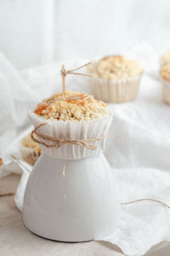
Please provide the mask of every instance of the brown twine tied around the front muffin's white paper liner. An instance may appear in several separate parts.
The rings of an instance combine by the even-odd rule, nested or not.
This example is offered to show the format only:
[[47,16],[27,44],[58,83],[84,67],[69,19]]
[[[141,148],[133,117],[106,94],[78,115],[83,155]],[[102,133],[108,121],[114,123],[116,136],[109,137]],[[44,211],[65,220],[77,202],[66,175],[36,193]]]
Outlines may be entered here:
[[[82,147],[85,147],[85,148],[88,148],[88,149],[96,149],[97,146],[95,145],[91,145],[91,144],[88,144],[88,143],[92,143],[92,142],[95,142],[95,141],[101,141],[103,140],[105,137],[108,136],[108,132],[105,133],[104,136],[102,137],[93,137],[93,138],[89,138],[89,139],[86,139],[86,140],[71,140],[71,139],[66,139],[66,138],[54,138],[54,137],[50,137],[48,135],[45,135],[45,134],[42,134],[42,133],[39,133],[37,132],[37,130],[42,127],[43,125],[47,125],[46,123],[43,123],[41,125],[38,125],[33,131],[31,131],[31,138],[32,140],[35,142],[35,143],[39,143],[39,144],[42,144],[43,146],[47,147],[47,148],[59,148],[62,144],[66,144],[66,143],[69,143],[71,145],[78,145],[78,146],[82,146]],[[45,143],[45,142],[42,142],[42,141],[39,141],[35,135],[37,135],[37,137],[41,137],[43,140],[45,141],[48,141],[48,142],[52,142],[53,144],[48,144],[48,143]]]

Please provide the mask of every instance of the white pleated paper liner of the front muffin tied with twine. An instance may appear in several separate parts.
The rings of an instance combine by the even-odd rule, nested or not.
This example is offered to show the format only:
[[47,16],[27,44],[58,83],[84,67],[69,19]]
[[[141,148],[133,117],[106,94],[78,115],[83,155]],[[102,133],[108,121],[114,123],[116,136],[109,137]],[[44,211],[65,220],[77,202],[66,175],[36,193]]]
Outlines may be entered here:
[[[102,137],[107,131],[109,131],[112,116],[111,113],[106,114],[104,117],[99,119],[85,121],[74,121],[70,120],[54,120],[54,119],[43,119],[32,111],[29,112],[31,121],[35,127],[46,123],[38,129],[39,133],[54,137],[56,139],[66,138],[71,140],[86,140],[94,137]],[[38,140],[50,144],[50,142],[44,141],[42,138],[38,137]],[[42,144],[39,144],[42,151],[52,157],[58,159],[76,160],[82,159],[89,156],[94,156],[99,154],[101,150],[105,148],[106,137],[101,141],[95,141],[89,143],[90,145],[97,146],[96,149],[88,149],[79,145],[71,145],[69,143],[62,144],[60,148],[47,148]],[[53,143],[52,143],[53,144]]]

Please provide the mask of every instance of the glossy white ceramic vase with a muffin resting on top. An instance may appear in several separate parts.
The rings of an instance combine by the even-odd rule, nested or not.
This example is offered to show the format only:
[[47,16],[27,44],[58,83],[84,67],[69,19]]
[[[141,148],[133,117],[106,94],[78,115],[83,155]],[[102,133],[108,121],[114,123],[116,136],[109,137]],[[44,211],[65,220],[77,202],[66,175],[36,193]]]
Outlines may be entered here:
[[31,232],[56,241],[100,239],[116,229],[121,204],[103,153],[81,160],[42,154],[33,167],[23,207]]

